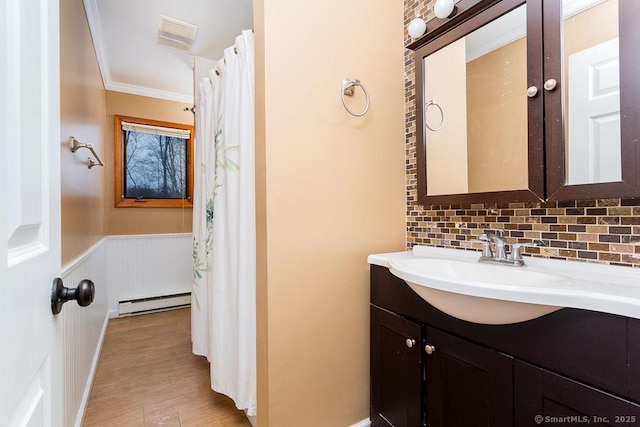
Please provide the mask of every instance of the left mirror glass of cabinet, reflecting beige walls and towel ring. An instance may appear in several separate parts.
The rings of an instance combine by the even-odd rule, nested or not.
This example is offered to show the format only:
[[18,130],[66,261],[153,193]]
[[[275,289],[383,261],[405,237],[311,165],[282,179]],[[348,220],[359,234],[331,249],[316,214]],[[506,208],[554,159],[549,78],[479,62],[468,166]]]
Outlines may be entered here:
[[428,196],[529,187],[526,28],[522,5],[423,58]]

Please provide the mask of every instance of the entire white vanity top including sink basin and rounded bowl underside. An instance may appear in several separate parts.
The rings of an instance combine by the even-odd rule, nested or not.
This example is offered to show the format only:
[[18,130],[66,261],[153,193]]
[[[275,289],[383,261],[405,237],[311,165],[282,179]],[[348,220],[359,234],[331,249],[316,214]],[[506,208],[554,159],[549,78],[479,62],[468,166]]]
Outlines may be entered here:
[[475,323],[508,324],[564,307],[640,319],[640,268],[526,258],[524,267],[479,263],[480,253],[415,246],[369,255],[441,311]]

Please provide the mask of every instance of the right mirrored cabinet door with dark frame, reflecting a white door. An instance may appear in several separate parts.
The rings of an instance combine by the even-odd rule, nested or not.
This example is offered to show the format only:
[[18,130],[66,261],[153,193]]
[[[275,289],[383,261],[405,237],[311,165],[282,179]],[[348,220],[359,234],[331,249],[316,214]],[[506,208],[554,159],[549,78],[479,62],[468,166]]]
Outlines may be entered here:
[[544,5],[545,78],[560,82],[545,115],[562,118],[545,122],[546,197],[639,197],[640,2]]

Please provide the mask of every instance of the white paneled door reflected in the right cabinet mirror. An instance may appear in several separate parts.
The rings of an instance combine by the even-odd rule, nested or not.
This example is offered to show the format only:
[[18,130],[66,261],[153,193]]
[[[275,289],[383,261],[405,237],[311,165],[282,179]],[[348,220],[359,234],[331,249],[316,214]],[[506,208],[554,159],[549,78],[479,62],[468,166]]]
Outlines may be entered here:
[[622,179],[618,39],[569,56],[568,184]]

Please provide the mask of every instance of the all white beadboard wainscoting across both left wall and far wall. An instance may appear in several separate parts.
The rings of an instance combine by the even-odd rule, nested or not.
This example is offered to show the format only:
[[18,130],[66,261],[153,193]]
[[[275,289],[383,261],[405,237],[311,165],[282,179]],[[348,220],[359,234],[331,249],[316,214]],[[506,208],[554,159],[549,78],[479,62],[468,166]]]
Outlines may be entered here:
[[58,315],[62,340],[64,425],[81,426],[109,317],[119,301],[191,292],[191,234],[108,236],[65,265],[65,286],[93,280],[88,307],[71,301]]

